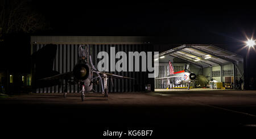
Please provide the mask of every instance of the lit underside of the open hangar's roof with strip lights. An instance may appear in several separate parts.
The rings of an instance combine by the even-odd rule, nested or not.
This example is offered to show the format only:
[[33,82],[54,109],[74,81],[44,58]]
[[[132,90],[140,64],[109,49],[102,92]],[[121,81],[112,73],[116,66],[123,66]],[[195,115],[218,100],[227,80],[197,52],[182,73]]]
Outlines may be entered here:
[[[201,67],[243,62],[243,57],[238,54],[213,45],[203,44],[184,44],[155,55],[155,59],[156,56],[159,57],[159,63],[168,62],[171,58],[177,58]],[[163,56],[164,58],[160,58]]]

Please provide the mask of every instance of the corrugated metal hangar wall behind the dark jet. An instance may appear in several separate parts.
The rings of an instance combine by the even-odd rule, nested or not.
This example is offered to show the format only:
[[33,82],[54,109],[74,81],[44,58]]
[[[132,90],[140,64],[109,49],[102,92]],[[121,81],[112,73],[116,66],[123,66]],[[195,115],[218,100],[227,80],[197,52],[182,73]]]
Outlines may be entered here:
[[[32,52],[36,52],[37,50],[44,47],[46,44],[36,44],[32,47]],[[73,67],[77,64],[79,59],[78,54],[78,47],[79,44],[57,44],[57,52],[56,58],[53,64],[53,70],[59,71],[60,73],[65,73],[73,70]],[[110,47],[115,47],[115,52],[123,51],[127,54],[128,60],[128,52],[148,52],[152,51],[152,45],[148,44],[90,44],[90,54],[92,55],[93,64],[97,68],[97,62],[101,59],[97,58],[97,54],[100,51],[106,51],[110,54]],[[118,61],[116,59],[115,61]],[[110,62],[110,56],[109,56]],[[141,65],[141,60],[140,60]],[[109,66],[110,68],[110,66]],[[129,68],[127,62],[127,69]],[[122,75],[126,77],[135,78],[135,80],[131,79],[113,79],[113,84],[110,84],[110,80],[108,82],[109,91],[110,92],[127,92],[127,91],[144,91],[146,84],[151,84],[151,90],[154,90],[154,78],[147,78],[148,72],[142,72],[141,68],[139,72],[109,72],[117,75]],[[68,92],[77,92],[77,85],[70,85],[68,86]],[[94,85],[93,89],[97,92],[101,91],[101,87]],[[53,87],[44,87],[41,89],[36,89],[36,92],[63,92],[64,85],[53,86]]]

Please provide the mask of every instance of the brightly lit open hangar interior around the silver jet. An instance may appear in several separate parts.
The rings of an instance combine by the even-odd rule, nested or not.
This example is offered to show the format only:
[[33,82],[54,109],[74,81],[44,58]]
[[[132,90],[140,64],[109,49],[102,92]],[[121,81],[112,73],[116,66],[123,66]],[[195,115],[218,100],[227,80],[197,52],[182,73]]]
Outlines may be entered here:
[[[174,72],[184,70],[185,65],[189,64],[189,70],[196,74],[195,81],[191,83],[195,88],[209,88],[211,79],[220,82],[219,85],[222,83],[221,87],[218,86],[219,89],[234,89],[240,78],[244,81],[243,57],[213,45],[185,44],[159,53],[158,58],[159,74],[156,78],[170,74],[168,61],[171,60]],[[183,87],[187,87],[187,83],[170,85],[171,89]],[[155,79],[155,90],[157,89],[167,89],[167,79]]]

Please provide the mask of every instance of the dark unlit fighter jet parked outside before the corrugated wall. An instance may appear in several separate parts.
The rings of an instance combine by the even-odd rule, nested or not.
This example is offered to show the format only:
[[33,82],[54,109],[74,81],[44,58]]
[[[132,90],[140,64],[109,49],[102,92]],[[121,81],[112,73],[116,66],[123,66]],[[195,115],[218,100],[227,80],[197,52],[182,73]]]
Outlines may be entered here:
[[[81,99],[84,101],[85,93],[92,91],[93,85],[101,84],[101,93],[108,97],[108,79],[111,79],[111,81],[113,78],[134,79],[98,71],[93,65],[91,56],[89,56],[89,45],[80,45],[78,49],[79,62],[75,65],[73,71],[42,78],[39,79],[39,81],[56,81],[60,79],[62,81],[65,80],[65,84],[77,83],[79,85],[79,91],[81,92]],[[66,98],[66,96],[67,85],[65,85],[64,98]]]

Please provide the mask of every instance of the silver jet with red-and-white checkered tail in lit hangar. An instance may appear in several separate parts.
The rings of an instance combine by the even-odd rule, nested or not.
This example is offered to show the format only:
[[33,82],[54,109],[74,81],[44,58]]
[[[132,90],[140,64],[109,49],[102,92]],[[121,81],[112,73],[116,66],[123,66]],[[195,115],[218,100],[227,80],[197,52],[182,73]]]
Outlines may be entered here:
[[196,79],[196,74],[192,73],[188,70],[189,65],[185,66],[184,70],[177,71],[174,73],[174,68],[172,66],[171,61],[169,61],[169,72],[170,75],[168,77],[161,77],[161,78],[155,78],[155,79],[168,79],[168,88],[170,89],[170,83],[174,83],[174,85],[178,86],[181,85],[181,83],[188,83],[188,90],[190,89],[190,83],[194,79]]

